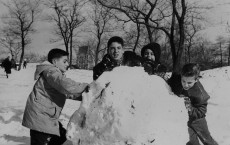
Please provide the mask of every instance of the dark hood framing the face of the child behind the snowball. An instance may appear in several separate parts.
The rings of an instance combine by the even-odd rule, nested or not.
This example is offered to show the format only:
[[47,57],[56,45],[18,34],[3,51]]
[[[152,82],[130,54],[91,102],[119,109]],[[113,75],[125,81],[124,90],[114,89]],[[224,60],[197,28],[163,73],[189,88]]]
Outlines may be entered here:
[[141,56],[144,57],[144,52],[146,49],[150,49],[153,51],[153,54],[155,56],[155,61],[156,62],[160,62],[160,57],[161,57],[161,46],[158,43],[152,42],[149,43],[147,45],[145,45],[142,49],[141,49]]

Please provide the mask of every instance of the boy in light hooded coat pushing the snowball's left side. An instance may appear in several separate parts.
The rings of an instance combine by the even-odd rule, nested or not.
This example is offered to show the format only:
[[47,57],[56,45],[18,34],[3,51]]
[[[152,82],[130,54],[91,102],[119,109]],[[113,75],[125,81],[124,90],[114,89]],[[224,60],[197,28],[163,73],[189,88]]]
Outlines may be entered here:
[[[66,130],[58,121],[66,99],[77,100],[87,83],[66,78],[68,53],[52,49],[48,62],[37,65],[37,80],[30,93],[22,125],[30,129],[31,145],[61,145],[66,141]],[[84,102],[84,97],[82,98]]]

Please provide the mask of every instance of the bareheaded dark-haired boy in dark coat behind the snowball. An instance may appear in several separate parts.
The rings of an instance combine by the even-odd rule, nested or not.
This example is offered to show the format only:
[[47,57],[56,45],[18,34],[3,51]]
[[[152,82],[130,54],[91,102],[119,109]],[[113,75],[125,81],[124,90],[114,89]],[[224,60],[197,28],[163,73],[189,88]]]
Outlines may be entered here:
[[93,68],[93,80],[96,80],[103,72],[111,71],[121,65],[140,66],[141,59],[132,51],[123,50],[124,41],[121,37],[111,37],[107,43],[107,54],[102,61]]

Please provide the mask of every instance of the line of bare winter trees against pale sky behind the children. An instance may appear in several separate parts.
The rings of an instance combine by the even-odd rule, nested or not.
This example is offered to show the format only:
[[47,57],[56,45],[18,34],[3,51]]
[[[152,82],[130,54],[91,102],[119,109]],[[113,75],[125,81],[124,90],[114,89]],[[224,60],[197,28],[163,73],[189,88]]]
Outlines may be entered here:
[[24,58],[46,60],[29,49],[42,21],[52,26],[50,43],[64,46],[76,68],[97,64],[114,35],[124,38],[125,49],[138,54],[147,43],[159,43],[161,62],[168,71],[179,72],[188,62],[198,62],[203,69],[229,65],[229,38],[218,36],[210,42],[202,35],[209,8],[196,0],[8,0],[2,4],[7,11],[1,16],[0,51],[20,64]]

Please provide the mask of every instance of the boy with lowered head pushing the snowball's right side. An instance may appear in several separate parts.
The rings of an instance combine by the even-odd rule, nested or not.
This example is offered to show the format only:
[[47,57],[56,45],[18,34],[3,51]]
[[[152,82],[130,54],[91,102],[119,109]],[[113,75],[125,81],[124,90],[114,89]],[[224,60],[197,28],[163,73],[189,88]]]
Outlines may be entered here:
[[[173,78],[169,79],[169,85],[175,94],[184,98],[185,107],[188,110],[189,142],[186,145],[200,145],[199,140],[204,145],[217,145],[210,135],[205,119],[210,96],[200,83],[199,74],[200,67],[198,64],[186,64],[182,68],[180,77],[174,75]],[[172,82],[172,80],[176,82]]]

